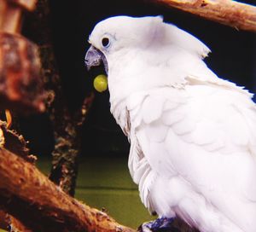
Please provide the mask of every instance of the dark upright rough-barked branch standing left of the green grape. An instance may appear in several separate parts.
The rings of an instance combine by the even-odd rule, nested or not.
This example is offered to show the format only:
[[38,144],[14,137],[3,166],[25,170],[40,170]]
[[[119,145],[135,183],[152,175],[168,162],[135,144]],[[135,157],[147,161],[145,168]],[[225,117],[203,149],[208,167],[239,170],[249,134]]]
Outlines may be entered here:
[[79,165],[78,123],[79,120],[84,119],[83,112],[80,113],[82,117],[75,119],[67,108],[51,44],[41,47],[40,55],[43,61],[44,86],[48,93],[47,112],[55,136],[55,149],[52,153],[52,169],[49,178],[67,194],[74,195]]

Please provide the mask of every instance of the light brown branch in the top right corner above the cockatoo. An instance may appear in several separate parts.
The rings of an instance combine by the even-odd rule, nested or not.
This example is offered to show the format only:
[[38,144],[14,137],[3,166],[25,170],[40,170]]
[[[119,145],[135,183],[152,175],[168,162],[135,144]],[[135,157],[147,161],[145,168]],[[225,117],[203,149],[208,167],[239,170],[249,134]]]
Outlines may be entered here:
[[231,0],[150,0],[197,14],[237,30],[256,32],[256,7]]

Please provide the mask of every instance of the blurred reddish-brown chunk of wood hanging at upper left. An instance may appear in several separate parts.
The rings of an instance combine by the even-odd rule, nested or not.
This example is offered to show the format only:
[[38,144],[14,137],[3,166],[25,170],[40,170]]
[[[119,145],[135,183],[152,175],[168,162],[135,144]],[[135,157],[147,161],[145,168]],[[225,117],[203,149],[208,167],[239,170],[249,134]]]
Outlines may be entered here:
[[19,5],[0,0],[0,107],[21,113],[43,111],[38,48],[18,34],[21,13]]

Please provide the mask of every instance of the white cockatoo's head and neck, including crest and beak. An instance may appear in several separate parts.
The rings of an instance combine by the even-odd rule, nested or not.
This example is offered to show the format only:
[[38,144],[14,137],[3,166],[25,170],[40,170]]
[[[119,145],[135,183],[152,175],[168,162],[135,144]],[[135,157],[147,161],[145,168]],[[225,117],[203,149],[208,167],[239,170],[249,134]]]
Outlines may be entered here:
[[103,63],[111,100],[156,86],[181,86],[188,73],[201,70],[198,64],[209,52],[200,40],[161,16],[102,20],[89,43],[85,65],[90,69]]

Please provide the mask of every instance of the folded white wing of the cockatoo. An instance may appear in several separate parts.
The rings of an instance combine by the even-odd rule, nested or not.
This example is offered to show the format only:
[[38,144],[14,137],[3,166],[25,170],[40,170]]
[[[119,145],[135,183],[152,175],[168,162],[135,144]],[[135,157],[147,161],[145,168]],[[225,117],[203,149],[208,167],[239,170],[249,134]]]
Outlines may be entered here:
[[[232,220],[256,215],[256,107],[246,91],[233,87],[191,81],[183,90],[131,96],[129,166],[135,182],[149,170],[154,174],[147,182],[180,176]],[[146,205],[148,191],[141,190]]]

